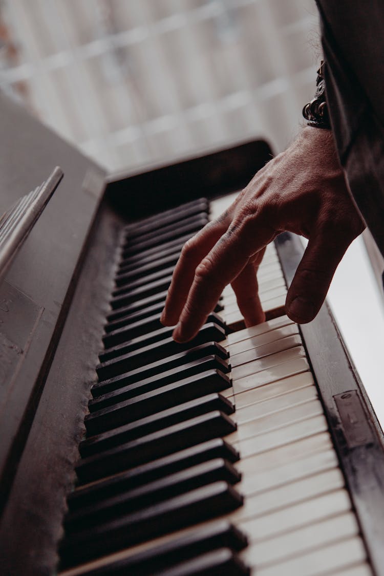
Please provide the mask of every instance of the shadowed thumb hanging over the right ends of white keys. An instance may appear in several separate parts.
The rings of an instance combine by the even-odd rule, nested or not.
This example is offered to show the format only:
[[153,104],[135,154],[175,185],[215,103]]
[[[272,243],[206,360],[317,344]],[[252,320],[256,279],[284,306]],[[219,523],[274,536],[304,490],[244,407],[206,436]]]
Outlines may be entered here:
[[350,241],[324,236],[309,240],[287,294],[286,313],[291,320],[305,324],[314,319]]

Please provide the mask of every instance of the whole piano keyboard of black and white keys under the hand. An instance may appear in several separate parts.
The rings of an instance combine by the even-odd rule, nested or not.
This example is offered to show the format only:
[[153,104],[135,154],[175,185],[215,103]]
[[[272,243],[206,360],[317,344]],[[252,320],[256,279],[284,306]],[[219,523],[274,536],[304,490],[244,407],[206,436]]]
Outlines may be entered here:
[[231,289],[188,344],[159,323],[207,220],[197,200],[125,232],[60,574],[368,576],[274,245],[258,271],[264,324],[239,329]]

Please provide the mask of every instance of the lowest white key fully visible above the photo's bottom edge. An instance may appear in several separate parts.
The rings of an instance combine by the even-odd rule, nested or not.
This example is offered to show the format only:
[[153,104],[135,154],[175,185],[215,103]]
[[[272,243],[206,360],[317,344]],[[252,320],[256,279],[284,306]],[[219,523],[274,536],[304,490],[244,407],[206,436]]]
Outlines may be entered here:
[[241,558],[248,566],[260,570],[265,565],[322,548],[340,539],[357,536],[358,533],[359,526],[355,515],[345,512],[336,518],[326,518],[267,541],[250,543],[241,553]]

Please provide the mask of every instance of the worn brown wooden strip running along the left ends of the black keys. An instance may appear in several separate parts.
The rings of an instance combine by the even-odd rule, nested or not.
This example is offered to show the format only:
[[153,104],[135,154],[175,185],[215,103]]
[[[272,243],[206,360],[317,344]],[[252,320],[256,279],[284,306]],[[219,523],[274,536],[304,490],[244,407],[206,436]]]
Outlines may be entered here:
[[102,203],[2,516],[0,565],[5,574],[55,573],[122,226]]

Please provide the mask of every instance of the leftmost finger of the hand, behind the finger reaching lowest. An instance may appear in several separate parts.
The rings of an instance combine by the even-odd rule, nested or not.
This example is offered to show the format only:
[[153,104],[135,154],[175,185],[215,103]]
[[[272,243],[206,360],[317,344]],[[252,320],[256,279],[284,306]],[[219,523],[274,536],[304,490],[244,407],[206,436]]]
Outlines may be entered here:
[[165,307],[160,317],[161,323],[165,326],[177,324],[181,310],[187,301],[197,265],[219,240],[227,227],[228,223],[225,218],[210,222],[184,245],[173,271]]

